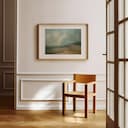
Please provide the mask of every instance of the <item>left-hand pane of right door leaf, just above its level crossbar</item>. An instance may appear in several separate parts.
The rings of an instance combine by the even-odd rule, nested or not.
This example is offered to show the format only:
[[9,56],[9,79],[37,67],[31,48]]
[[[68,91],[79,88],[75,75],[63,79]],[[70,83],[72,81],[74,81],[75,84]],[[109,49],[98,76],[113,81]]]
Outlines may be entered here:
[[124,58],[124,24],[119,25],[119,58]]

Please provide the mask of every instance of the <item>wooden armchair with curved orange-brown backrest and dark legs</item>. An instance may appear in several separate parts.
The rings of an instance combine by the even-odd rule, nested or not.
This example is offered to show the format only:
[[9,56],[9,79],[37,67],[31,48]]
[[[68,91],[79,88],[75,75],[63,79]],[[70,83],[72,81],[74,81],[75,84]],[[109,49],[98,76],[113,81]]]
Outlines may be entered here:
[[[63,99],[62,99],[62,114],[65,114],[66,109],[66,97],[73,98],[73,111],[76,110],[76,98],[84,98],[84,111],[85,118],[87,118],[88,113],[88,97],[93,97],[93,113],[96,111],[96,75],[86,75],[86,74],[74,74],[74,79],[72,81],[63,82]],[[84,85],[84,91],[77,91],[78,83]],[[72,91],[69,91],[69,86],[73,86]],[[93,91],[88,91],[88,86],[93,85]]]

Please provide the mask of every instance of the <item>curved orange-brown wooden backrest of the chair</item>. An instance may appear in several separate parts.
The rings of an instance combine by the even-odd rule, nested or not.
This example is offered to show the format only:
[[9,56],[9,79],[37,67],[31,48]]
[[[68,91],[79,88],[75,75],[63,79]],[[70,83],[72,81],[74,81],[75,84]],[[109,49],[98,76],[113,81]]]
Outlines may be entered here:
[[74,80],[78,83],[89,83],[96,81],[94,74],[74,74]]

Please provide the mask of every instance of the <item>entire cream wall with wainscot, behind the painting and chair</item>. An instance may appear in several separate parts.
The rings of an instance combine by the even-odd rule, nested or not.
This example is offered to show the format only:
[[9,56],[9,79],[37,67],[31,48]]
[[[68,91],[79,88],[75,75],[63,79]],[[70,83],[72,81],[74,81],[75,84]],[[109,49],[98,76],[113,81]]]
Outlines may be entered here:
[[[40,23],[88,24],[88,60],[38,60],[37,24]],[[105,109],[103,53],[105,53],[104,0],[18,0],[16,108],[61,109],[62,81],[72,79],[73,73],[95,73],[97,108]],[[52,97],[48,97],[48,94],[52,94]],[[69,100],[68,108],[70,105]]]

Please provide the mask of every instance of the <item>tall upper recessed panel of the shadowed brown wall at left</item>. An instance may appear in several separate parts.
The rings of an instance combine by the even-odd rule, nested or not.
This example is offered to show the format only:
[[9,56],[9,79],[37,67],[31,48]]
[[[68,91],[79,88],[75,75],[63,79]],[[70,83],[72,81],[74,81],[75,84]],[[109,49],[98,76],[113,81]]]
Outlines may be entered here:
[[15,4],[3,0],[3,61],[14,62],[15,45]]

